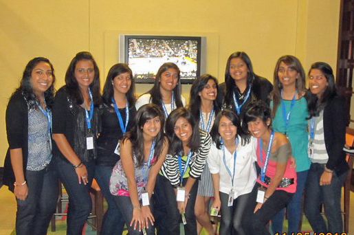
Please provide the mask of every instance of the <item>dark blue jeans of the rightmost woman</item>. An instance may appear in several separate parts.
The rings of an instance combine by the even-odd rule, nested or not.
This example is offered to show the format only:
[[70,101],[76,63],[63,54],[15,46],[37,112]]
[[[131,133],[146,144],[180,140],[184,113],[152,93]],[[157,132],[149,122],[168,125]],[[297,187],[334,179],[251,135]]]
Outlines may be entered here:
[[[348,172],[339,176],[333,172],[331,184],[320,186],[320,177],[323,172],[324,164],[311,164],[305,188],[304,212],[313,232],[340,233],[343,232],[340,194]],[[328,229],[320,214],[320,205],[322,203],[324,204],[324,214],[327,217]]]

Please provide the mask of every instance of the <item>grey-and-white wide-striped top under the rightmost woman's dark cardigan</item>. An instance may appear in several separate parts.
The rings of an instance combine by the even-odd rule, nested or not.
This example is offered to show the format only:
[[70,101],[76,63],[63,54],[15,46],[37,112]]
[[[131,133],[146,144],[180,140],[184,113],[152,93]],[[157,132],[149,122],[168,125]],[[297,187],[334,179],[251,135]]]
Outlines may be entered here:
[[[323,110],[320,111],[320,115],[315,118],[315,138],[313,140],[313,156],[309,156],[311,162],[326,164],[329,157],[326,149],[326,144],[324,143],[324,128],[323,128]],[[309,126],[311,120],[309,120]]]

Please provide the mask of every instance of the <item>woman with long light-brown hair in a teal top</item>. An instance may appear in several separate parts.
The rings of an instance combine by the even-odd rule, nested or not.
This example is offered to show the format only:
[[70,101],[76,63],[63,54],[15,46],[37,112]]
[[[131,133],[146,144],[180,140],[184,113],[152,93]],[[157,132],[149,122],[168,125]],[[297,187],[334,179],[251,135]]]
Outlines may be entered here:
[[[287,136],[296,159],[298,184],[296,193],[287,205],[288,232],[298,232],[302,192],[310,167],[307,156],[307,101],[305,99],[305,71],[295,56],[282,56],[274,69],[274,87],[271,93],[272,124],[274,131]],[[273,232],[282,232],[285,209],[272,219]]]

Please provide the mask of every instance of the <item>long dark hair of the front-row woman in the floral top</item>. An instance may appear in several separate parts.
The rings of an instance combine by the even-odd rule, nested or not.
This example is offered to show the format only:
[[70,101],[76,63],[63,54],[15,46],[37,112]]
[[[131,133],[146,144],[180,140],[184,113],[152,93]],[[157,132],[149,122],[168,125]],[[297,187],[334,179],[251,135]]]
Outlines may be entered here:
[[[159,155],[162,151],[162,146],[164,146],[165,138],[164,138],[164,123],[165,123],[165,115],[156,104],[144,104],[137,111],[135,115],[135,125],[131,128],[131,131],[127,132],[126,135],[122,138],[122,143],[129,139],[131,141],[131,146],[133,148],[133,153],[135,153],[135,157],[137,159],[136,167],[142,166],[144,164],[144,136],[142,128],[147,120],[159,117],[161,128],[159,133],[155,137],[155,157],[159,158]],[[155,161],[156,162],[156,161]]]

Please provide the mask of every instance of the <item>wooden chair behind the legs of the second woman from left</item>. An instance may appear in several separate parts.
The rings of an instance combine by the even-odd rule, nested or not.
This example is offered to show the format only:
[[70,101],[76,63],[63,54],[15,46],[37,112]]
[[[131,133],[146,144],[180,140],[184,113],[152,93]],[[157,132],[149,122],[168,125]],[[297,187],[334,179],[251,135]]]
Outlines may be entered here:
[[[63,185],[61,181],[59,180],[58,183],[58,202],[56,206],[56,213],[53,214],[52,219],[51,219],[51,230],[52,232],[56,231],[56,221],[55,218],[56,216],[66,216],[67,213],[64,213],[62,208],[63,208],[63,202],[67,202],[68,197],[66,195],[63,196]],[[103,219],[103,194],[100,190],[100,187],[98,186],[98,183],[96,179],[93,179],[91,188],[89,190],[90,195],[91,195],[91,200],[92,200],[92,211],[91,214],[89,214],[89,217],[87,218],[87,224],[89,224],[94,231],[97,231],[97,234],[100,234],[101,231],[101,226],[102,226],[102,219]]]

